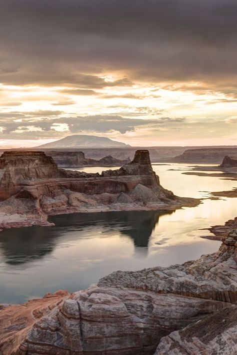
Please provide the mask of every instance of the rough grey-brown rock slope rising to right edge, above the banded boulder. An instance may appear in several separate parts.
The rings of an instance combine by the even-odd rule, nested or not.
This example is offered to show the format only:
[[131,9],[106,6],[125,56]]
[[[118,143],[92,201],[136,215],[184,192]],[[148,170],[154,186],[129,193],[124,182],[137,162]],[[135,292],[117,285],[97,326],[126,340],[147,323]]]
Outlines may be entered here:
[[[159,294],[176,294],[237,304],[237,231],[223,238],[218,252],[168,268],[117,271],[98,282],[100,287],[125,287]],[[224,282],[223,282],[224,281]]]

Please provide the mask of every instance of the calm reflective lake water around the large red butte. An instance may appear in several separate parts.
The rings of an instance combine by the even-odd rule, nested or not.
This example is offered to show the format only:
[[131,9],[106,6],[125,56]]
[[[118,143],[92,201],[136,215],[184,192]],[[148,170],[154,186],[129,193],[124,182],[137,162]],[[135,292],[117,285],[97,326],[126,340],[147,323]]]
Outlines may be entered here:
[[[237,182],[218,177],[183,175],[190,170],[187,164],[153,165],[153,169],[161,185],[179,196],[207,197],[210,191],[237,187]],[[223,224],[236,215],[235,198],[207,199],[172,213],[77,213],[51,217],[55,227],[4,230],[0,233],[0,303],[21,303],[58,289],[85,289],[115,270],[196,259],[220,245],[200,238],[209,232],[199,228]]]

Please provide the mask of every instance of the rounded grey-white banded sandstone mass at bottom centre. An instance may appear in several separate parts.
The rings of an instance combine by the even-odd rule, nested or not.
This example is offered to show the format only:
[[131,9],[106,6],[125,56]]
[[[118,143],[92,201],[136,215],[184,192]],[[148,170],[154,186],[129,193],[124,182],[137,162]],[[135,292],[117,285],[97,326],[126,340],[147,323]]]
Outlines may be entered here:
[[[21,342],[16,325],[11,327],[12,335],[7,341],[14,342],[14,348],[6,344],[4,333],[0,336],[3,355],[153,354],[163,336],[226,307],[211,300],[188,297],[177,300],[173,295],[96,286],[62,297],[58,306],[53,298],[52,303],[53,310],[39,319],[41,311],[34,309],[31,302],[14,310],[16,322],[19,322],[17,312],[22,317],[24,307],[28,316],[28,309],[31,310],[34,319],[25,322],[31,324],[30,330],[27,327],[28,334],[21,323],[21,335],[24,333]],[[14,306],[8,308],[8,314],[11,307]],[[0,317],[4,319],[5,314],[7,309],[1,311]]]

